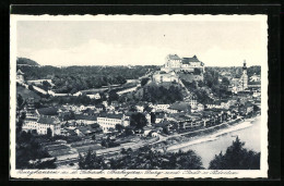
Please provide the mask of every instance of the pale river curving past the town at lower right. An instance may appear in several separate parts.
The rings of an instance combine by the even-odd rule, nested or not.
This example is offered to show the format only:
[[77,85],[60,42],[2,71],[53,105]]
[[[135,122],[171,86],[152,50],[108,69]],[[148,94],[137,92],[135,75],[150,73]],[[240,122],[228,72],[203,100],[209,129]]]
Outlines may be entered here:
[[223,129],[223,132],[221,131],[217,132],[217,134],[211,135],[209,137],[209,140],[204,142],[187,146],[181,150],[194,150],[197,154],[199,154],[202,158],[203,166],[206,169],[209,166],[210,161],[214,159],[215,154],[218,154],[221,151],[225,153],[227,147],[229,147],[233,140],[236,139],[236,136],[238,136],[241,141],[246,142],[245,148],[252,149],[259,152],[261,133],[260,117],[261,116],[257,116],[255,121],[246,121],[235,126],[230,126],[229,128]]

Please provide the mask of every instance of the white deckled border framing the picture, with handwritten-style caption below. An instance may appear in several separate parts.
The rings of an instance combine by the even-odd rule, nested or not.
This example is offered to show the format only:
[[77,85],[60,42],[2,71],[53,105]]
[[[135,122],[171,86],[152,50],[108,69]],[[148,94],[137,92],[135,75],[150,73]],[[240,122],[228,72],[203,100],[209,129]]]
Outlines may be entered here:
[[[262,41],[268,45],[267,15],[11,15],[10,16],[10,176],[12,178],[258,178],[268,177],[268,63],[261,64],[261,170],[15,170],[16,23],[17,21],[228,21],[261,23]],[[268,51],[267,51],[268,54]],[[267,58],[268,61],[268,58]],[[115,171],[115,172],[114,172]],[[137,173],[134,173],[137,172]],[[139,174],[138,174],[139,173]]]

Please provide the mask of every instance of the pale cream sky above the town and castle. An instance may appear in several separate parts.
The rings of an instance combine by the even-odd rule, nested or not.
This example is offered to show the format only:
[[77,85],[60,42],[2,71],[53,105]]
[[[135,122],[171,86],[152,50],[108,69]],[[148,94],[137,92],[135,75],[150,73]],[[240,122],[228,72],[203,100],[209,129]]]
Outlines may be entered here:
[[258,21],[17,21],[16,55],[42,65],[163,65],[167,54],[206,66],[267,63]]

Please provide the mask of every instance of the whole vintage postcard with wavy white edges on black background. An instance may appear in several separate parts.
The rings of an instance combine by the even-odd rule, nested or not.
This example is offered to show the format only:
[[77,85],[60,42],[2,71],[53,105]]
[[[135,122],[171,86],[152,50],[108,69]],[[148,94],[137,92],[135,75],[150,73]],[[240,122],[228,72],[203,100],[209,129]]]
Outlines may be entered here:
[[268,177],[267,15],[10,17],[11,177]]

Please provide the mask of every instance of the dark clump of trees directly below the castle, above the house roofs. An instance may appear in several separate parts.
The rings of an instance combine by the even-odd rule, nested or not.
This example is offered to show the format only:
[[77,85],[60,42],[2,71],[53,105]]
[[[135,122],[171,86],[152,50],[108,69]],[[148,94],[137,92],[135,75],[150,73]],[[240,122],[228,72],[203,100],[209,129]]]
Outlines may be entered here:
[[143,87],[142,101],[153,103],[174,103],[184,99],[182,88],[178,86],[146,86]]

